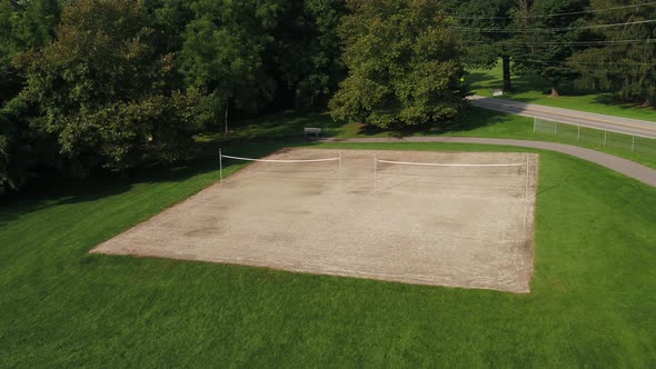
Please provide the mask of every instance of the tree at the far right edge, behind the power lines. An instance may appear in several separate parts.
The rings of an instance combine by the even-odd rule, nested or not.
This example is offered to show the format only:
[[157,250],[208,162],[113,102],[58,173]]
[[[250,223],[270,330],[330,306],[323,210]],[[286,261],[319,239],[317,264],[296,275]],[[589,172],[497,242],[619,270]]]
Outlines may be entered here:
[[[624,6],[627,1],[590,2],[592,10]],[[649,6],[596,12],[589,20],[593,27],[637,23],[593,30],[593,36],[605,43],[569,58],[569,66],[580,73],[579,84],[594,89],[617,89],[624,100],[642,98],[643,107],[656,107],[656,24],[643,22],[653,19],[656,19],[656,7]]]

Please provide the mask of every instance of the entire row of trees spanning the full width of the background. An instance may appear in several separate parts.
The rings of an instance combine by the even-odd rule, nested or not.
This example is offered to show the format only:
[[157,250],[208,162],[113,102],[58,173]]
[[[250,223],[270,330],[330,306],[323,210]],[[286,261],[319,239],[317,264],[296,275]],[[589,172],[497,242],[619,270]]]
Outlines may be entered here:
[[236,114],[441,122],[465,67],[499,58],[507,90],[531,72],[654,106],[654,19],[628,0],[0,0],[0,192],[176,162]]

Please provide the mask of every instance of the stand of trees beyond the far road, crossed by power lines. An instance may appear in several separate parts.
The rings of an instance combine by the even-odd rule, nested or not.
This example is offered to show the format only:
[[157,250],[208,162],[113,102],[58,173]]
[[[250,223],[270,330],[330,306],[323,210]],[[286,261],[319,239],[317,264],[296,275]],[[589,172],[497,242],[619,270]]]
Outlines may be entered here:
[[[635,0],[447,0],[468,63],[500,58],[504,89],[510,73],[536,73],[551,83],[622,91],[626,101],[656,106],[656,6]],[[510,63],[511,61],[511,63]],[[513,68],[511,68],[513,66]]]

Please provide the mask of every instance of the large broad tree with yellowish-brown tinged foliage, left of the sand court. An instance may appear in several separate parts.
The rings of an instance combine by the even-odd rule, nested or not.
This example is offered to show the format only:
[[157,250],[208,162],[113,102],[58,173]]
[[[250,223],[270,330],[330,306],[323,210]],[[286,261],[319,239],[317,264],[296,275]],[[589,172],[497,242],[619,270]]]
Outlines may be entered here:
[[34,122],[74,172],[188,152],[195,97],[170,89],[172,57],[153,43],[142,2],[79,0],[63,8],[56,41],[23,57],[23,96],[40,109]]

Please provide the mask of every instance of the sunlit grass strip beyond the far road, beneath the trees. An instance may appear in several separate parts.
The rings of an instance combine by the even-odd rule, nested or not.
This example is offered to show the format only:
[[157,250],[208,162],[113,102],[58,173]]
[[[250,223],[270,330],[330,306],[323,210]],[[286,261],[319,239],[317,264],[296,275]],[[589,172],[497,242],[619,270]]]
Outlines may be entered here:
[[[503,71],[500,63],[491,70],[471,70],[467,77],[471,89],[480,96],[491,97],[493,89],[501,88]],[[513,76],[513,93],[505,93],[504,99],[543,106],[583,110],[600,114],[634,118],[656,122],[656,109],[639,108],[639,103],[626,103],[610,92],[598,93],[577,91],[571,82],[563,83],[563,96],[551,98],[550,86],[538,76]]]

